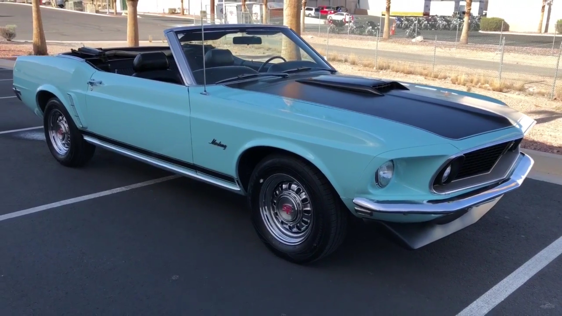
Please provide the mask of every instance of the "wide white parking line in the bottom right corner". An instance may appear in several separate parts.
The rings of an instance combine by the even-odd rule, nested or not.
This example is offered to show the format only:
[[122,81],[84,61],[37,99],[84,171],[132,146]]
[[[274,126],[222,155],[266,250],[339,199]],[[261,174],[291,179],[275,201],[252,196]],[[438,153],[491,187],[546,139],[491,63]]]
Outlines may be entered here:
[[497,304],[505,300],[507,296],[517,290],[531,277],[533,277],[552,260],[562,254],[562,237],[552,242],[549,246],[525,262],[519,269],[515,270],[490,291],[478,297],[472,304],[468,305],[457,316],[483,316],[492,310]]

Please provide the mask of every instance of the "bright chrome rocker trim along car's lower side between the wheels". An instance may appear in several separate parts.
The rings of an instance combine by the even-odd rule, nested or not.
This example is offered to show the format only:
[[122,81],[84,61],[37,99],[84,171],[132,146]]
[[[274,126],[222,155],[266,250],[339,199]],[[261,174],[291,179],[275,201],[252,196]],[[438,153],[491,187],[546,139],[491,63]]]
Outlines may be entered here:
[[184,175],[185,177],[188,177],[188,178],[192,178],[192,179],[195,179],[195,180],[200,180],[202,182],[212,184],[216,187],[228,189],[229,191],[239,193],[239,194],[243,194],[240,187],[238,187],[236,184],[222,182],[221,180],[214,179],[214,178],[211,178],[211,177],[207,177],[206,175],[197,174],[195,171],[185,169],[185,168],[182,168],[180,166],[168,164],[164,161],[156,160],[156,159],[144,156],[144,155],[140,155],[140,154],[137,154],[136,152],[132,152],[132,151],[126,150],[124,148],[120,148],[120,147],[110,145],[110,144],[102,142],[102,141],[98,141],[98,139],[96,139],[96,138],[92,138],[92,137],[89,137],[89,136],[83,136],[83,137],[84,137],[84,140],[87,141],[90,144],[105,148],[107,150],[116,152],[117,154],[127,156],[127,157],[133,158],[133,159],[138,160],[138,161],[146,162],[147,164],[155,166],[156,168],[171,171],[171,172],[176,173],[176,174]]

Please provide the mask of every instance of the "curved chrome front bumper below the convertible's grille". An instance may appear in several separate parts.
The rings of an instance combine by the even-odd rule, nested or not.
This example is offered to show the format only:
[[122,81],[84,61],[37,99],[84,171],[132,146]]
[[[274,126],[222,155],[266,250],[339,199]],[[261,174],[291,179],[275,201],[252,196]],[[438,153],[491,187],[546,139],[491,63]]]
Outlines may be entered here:
[[373,216],[373,213],[445,215],[493,202],[497,197],[519,188],[523,180],[527,178],[534,161],[523,153],[518,160],[509,178],[495,187],[486,188],[485,191],[476,190],[475,193],[470,192],[453,198],[427,201],[373,201],[356,197],[353,199],[355,211],[358,215],[363,216]]

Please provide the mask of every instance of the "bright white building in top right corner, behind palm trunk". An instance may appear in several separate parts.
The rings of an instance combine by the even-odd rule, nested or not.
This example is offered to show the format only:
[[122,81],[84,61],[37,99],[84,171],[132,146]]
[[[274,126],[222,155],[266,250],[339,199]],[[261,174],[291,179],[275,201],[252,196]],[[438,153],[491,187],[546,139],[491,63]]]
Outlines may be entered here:
[[[536,32],[541,19],[542,0],[491,0],[487,17],[501,17],[509,24],[510,31]],[[562,19],[562,2],[547,5],[542,20],[542,31],[554,33],[556,21]]]

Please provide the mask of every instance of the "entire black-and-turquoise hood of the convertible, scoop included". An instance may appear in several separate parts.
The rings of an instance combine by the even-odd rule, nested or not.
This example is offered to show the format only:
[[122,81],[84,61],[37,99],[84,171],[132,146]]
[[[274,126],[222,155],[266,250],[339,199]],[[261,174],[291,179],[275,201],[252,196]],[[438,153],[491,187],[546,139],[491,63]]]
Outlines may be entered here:
[[[463,139],[500,130],[506,130],[509,136],[514,132],[523,136],[535,123],[500,101],[479,94],[362,76],[303,74],[226,86],[370,117],[373,119],[370,126],[362,128],[370,129],[366,132],[379,133],[375,121],[382,119],[394,123],[395,127],[398,123],[410,128],[400,129],[402,132],[414,128],[419,133],[436,136],[428,135],[432,142],[441,139],[454,145]],[[352,121],[348,124],[358,127]],[[392,136],[392,132],[384,133]]]

